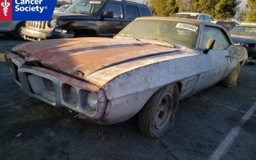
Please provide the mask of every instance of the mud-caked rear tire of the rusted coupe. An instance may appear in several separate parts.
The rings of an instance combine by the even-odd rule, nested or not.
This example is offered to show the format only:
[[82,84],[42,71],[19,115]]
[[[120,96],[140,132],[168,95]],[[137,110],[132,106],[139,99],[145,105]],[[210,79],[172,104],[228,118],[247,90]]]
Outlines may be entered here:
[[230,74],[228,74],[227,77],[225,77],[222,81],[221,81],[221,85],[222,86],[226,86],[226,87],[235,87],[237,78],[240,74],[240,70],[241,70],[241,65],[240,63],[236,66],[236,68],[234,68],[232,70],[232,72],[230,72]]

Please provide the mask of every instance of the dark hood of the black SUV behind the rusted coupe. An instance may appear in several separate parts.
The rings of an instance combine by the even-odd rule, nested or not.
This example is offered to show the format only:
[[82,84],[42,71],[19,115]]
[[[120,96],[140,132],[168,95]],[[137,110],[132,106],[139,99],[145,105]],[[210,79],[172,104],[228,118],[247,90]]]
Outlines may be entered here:
[[67,19],[96,19],[93,15],[84,15],[78,13],[67,13],[67,12],[55,12],[52,17],[55,17],[58,20],[67,20]]

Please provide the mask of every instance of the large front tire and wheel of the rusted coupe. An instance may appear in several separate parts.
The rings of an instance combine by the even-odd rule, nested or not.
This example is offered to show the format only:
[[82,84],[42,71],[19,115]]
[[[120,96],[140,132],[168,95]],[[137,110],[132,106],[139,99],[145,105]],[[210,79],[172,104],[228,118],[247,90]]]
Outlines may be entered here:
[[174,125],[178,106],[177,84],[171,84],[154,93],[138,114],[141,133],[148,138],[164,136]]

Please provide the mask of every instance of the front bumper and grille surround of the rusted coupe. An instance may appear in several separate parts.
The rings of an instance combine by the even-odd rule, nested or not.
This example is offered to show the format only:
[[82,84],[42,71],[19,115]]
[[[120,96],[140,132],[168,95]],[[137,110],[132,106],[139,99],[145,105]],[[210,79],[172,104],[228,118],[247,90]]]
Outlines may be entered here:
[[[86,83],[46,68],[24,65],[25,61],[13,53],[7,54],[6,60],[10,64],[15,82],[22,87],[24,93],[29,97],[40,99],[51,106],[71,109],[79,113],[79,116],[84,116],[95,123],[104,115],[106,95],[103,90],[94,84]],[[74,88],[75,92],[73,93],[77,95],[76,104],[69,99],[67,100],[65,86]],[[86,93],[88,92],[93,92],[98,97],[97,109],[95,110],[90,109],[85,102]]]

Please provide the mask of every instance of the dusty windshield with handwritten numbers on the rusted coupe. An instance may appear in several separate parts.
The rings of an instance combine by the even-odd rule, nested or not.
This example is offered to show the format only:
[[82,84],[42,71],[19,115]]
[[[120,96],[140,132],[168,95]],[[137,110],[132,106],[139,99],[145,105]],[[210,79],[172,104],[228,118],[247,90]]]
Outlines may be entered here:
[[199,25],[173,20],[137,19],[123,29],[116,38],[150,40],[163,45],[180,45],[195,48]]

